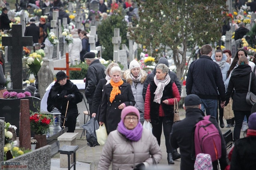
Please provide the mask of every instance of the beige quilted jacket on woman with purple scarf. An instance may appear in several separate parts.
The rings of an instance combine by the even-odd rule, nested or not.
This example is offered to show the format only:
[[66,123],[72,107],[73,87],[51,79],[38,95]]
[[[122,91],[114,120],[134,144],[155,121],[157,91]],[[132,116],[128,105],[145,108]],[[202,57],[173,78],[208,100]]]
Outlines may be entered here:
[[117,130],[108,135],[99,160],[98,169],[108,169],[112,161],[112,170],[133,170],[139,163],[147,167],[158,163],[162,158],[160,147],[155,136],[146,129],[143,129],[142,137],[138,142],[127,140]]

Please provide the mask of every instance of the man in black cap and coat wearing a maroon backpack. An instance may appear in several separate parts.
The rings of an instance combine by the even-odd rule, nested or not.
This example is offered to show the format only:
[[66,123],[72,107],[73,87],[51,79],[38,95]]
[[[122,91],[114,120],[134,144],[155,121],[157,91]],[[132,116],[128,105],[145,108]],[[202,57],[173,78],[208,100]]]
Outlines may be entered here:
[[[184,99],[184,110],[186,110],[186,118],[175,122],[172,125],[172,132],[170,134],[170,143],[174,148],[180,148],[181,153],[181,170],[194,170],[194,163],[196,155],[194,153],[194,146],[191,142],[194,139],[194,126],[197,122],[204,117],[204,113],[201,110],[201,100],[195,94],[187,95]],[[209,119],[215,127],[218,129],[219,134],[221,136],[221,158],[219,159],[219,163],[221,166],[221,170],[224,170],[227,166],[226,160],[226,144],[224,141],[224,137],[221,133],[221,130],[218,126],[216,118],[211,116]],[[217,170],[218,160],[212,162],[213,169]]]

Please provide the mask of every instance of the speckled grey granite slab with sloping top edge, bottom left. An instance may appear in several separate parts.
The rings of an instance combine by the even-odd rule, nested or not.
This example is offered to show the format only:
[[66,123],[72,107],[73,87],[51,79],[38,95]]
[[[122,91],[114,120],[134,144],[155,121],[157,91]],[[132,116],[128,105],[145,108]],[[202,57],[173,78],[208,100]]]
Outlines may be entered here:
[[50,170],[51,163],[51,147],[46,145],[42,148],[23,154],[19,157],[13,158],[11,161],[28,161],[29,170]]

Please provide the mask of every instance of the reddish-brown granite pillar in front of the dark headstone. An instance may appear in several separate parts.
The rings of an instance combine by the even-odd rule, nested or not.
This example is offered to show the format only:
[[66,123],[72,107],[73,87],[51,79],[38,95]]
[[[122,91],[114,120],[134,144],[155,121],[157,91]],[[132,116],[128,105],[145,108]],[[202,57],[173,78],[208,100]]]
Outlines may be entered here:
[[20,100],[20,133],[19,142],[21,148],[31,149],[29,120],[29,99]]

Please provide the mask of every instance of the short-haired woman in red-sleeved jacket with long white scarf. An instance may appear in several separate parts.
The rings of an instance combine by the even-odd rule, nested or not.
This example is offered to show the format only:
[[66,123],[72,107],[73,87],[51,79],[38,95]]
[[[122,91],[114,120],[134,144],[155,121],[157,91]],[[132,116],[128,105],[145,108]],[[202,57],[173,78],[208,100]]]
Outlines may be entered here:
[[160,145],[162,127],[165,136],[165,145],[168,164],[174,164],[181,155],[176,148],[172,148],[169,143],[170,133],[172,131],[174,117],[174,98],[180,101],[181,97],[178,88],[169,74],[169,68],[165,64],[156,66],[156,75],[149,81],[145,97],[145,115],[144,119],[150,121],[153,128],[153,134]]

